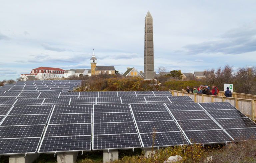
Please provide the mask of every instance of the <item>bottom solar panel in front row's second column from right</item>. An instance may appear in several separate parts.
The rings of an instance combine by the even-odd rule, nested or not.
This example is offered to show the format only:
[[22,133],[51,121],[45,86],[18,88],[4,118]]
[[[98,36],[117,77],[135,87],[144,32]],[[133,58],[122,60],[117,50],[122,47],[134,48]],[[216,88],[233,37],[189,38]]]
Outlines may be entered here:
[[191,143],[230,142],[230,137],[223,130],[184,131]]

